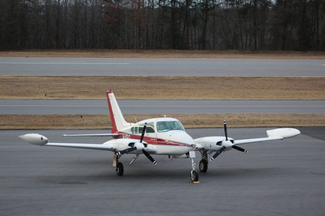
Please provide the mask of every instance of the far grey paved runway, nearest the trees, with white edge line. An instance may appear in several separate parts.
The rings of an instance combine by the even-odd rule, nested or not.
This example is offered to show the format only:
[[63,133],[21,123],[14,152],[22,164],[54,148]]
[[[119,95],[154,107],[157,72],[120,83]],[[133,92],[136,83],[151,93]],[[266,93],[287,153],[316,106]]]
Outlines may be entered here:
[[325,60],[0,57],[0,75],[324,77]]

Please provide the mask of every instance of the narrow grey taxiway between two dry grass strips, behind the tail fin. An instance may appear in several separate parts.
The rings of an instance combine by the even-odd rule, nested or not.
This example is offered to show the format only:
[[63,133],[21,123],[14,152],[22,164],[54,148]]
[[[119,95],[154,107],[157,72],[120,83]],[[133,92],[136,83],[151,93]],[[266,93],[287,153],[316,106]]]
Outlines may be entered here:
[[[124,114],[325,113],[325,100],[118,100]],[[107,100],[0,100],[0,114],[107,114]]]

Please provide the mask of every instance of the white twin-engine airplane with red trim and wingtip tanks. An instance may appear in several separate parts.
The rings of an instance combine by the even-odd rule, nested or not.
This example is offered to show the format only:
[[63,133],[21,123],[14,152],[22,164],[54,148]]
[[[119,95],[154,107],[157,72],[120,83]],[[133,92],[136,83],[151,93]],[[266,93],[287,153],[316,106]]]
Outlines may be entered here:
[[190,172],[190,181],[197,182],[199,174],[196,171],[196,163],[193,158],[196,157],[195,151],[200,151],[202,159],[199,164],[201,172],[208,169],[208,155],[211,155],[213,161],[221,152],[236,149],[241,152],[247,152],[239,147],[246,143],[269,141],[294,137],[300,134],[300,131],[294,128],[279,128],[267,130],[268,137],[234,140],[228,137],[225,121],[225,136],[210,136],[193,139],[189,136],[182,123],[173,118],[147,119],[138,123],[128,123],[124,120],[120,108],[117,104],[112,90],[106,92],[109,113],[111,116],[112,133],[110,134],[80,134],[63,136],[112,136],[115,139],[104,142],[103,144],[85,144],[85,143],[54,143],[40,134],[30,133],[19,136],[23,140],[39,146],[68,147],[92,150],[104,150],[114,152],[113,167],[116,168],[117,175],[123,175],[123,164],[118,162],[123,154],[135,154],[131,161],[132,164],[141,154],[144,154],[153,164],[156,161],[151,155],[168,155],[172,158],[189,158],[192,165]]

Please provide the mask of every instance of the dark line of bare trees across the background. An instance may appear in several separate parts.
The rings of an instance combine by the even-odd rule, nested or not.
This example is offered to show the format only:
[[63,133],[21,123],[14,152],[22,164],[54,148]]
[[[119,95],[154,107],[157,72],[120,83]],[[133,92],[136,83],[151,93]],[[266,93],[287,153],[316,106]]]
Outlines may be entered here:
[[1,0],[0,49],[325,50],[325,0]]

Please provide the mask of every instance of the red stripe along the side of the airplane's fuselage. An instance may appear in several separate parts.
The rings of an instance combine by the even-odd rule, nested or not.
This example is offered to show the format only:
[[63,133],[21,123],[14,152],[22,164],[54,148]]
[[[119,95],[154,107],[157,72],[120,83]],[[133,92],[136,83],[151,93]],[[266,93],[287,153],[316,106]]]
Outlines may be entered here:
[[[141,138],[141,135],[136,135],[136,134],[129,134],[129,133],[124,133],[118,131],[118,138],[131,138],[131,139],[139,139]],[[123,135],[124,134],[124,135]],[[155,140],[152,140],[155,139]],[[173,140],[165,140],[165,139],[160,139],[156,137],[150,137],[150,136],[144,136],[143,141],[147,142],[148,144],[152,145],[165,145],[165,146],[187,146],[190,147],[190,144],[183,143],[183,142],[178,142],[178,141],[173,141]]]

